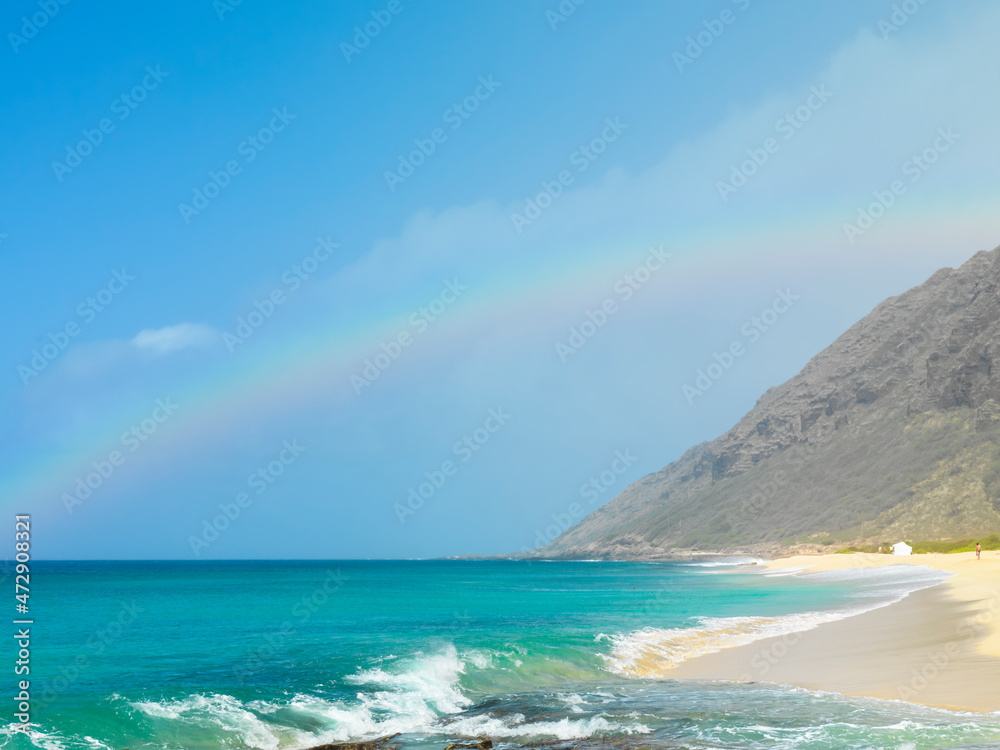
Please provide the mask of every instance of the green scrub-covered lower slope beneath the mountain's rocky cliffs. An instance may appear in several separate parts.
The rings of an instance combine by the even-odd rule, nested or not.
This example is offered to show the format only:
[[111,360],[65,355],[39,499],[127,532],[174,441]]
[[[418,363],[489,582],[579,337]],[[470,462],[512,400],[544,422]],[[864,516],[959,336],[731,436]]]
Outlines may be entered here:
[[690,549],[1000,528],[1000,446],[974,423],[975,413],[960,408],[880,421],[863,435],[845,431],[815,448],[792,447],[766,466],[716,482],[695,502],[668,513],[659,506],[655,516],[628,525]]

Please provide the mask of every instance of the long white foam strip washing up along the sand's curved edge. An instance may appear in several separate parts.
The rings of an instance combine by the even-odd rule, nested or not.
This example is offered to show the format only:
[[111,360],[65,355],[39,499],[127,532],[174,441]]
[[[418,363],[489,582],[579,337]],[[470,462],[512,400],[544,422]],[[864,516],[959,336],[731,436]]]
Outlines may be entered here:
[[607,669],[626,677],[666,677],[688,659],[853,617],[894,604],[914,591],[936,586],[951,577],[922,565],[850,568],[798,576],[816,583],[850,583],[857,589],[844,606],[827,611],[777,617],[704,617],[688,628],[650,627],[631,633],[602,633],[597,640],[611,641],[611,652],[602,655]]

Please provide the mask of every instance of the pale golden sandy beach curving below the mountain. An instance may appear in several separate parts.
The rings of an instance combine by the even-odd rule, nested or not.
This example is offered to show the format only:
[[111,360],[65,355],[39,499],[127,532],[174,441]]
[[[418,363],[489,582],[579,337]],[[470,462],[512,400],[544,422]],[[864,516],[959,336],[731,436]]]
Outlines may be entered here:
[[[812,630],[683,662],[675,679],[763,681],[951,710],[1000,711],[1000,552],[799,556],[765,571],[925,565],[953,577]],[[760,571],[761,568],[755,568]]]

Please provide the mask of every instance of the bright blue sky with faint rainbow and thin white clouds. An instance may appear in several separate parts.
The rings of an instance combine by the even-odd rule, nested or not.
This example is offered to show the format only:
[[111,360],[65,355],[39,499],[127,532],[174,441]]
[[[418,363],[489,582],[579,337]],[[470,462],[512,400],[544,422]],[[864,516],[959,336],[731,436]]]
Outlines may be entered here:
[[990,3],[680,5],[10,5],[36,554],[533,547],[1000,244]]

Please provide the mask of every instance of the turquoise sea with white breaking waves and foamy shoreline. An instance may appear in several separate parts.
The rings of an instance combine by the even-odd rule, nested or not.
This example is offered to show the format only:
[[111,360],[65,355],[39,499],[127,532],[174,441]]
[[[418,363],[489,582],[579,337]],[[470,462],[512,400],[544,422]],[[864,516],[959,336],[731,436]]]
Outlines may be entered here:
[[634,668],[642,654],[681,660],[940,580],[902,568],[35,563],[34,724],[30,739],[8,727],[2,740],[277,749],[400,732],[407,748],[441,750],[477,735],[509,747],[1000,747],[997,716]]

